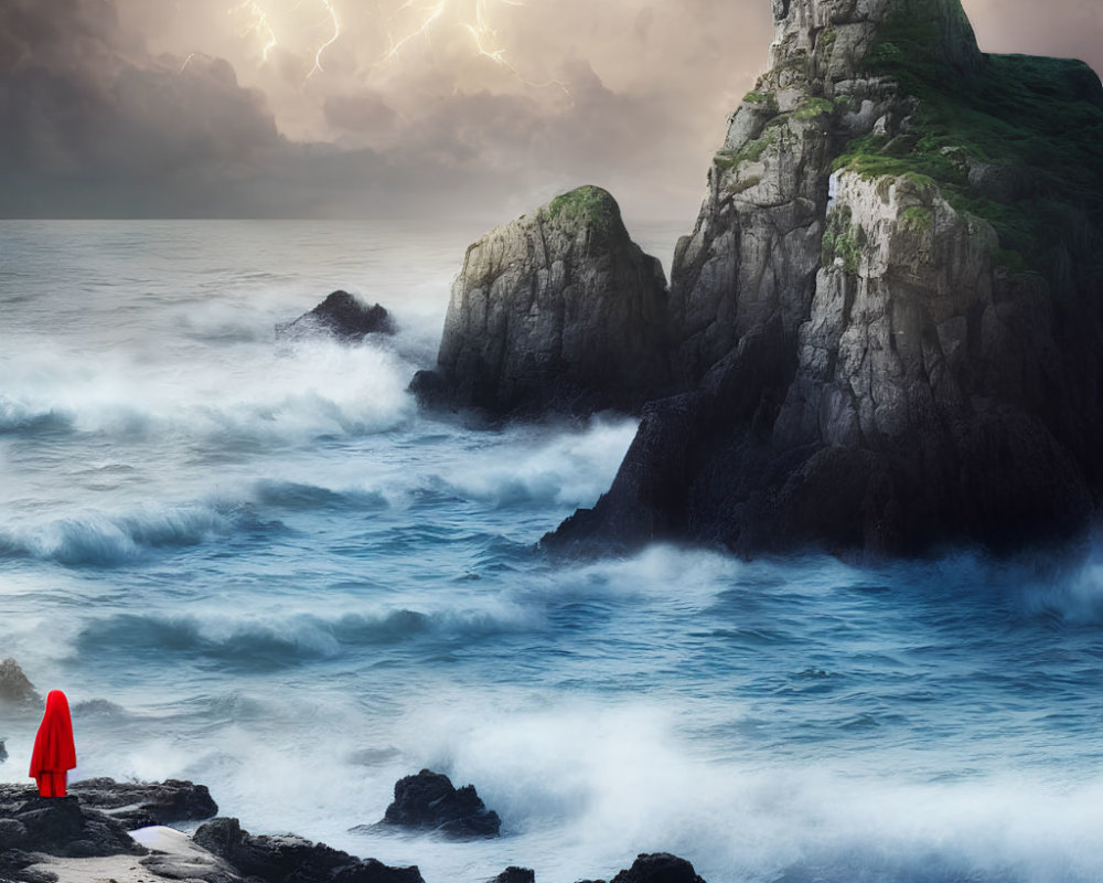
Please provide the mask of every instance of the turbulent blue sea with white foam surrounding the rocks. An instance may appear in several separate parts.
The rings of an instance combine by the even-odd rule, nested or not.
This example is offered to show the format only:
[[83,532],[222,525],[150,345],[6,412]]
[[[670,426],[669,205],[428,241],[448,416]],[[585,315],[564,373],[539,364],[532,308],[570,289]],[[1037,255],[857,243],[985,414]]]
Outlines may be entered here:
[[[634,425],[416,412],[479,232],[0,223],[0,658],[67,691],[75,776],[203,781],[428,883],[656,850],[709,883],[1103,880],[1095,551],[550,564]],[[276,345],[339,287],[401,333]],[[0,719],[0,778],[36,724]],[[349,832],[425,766],[504,836]]]

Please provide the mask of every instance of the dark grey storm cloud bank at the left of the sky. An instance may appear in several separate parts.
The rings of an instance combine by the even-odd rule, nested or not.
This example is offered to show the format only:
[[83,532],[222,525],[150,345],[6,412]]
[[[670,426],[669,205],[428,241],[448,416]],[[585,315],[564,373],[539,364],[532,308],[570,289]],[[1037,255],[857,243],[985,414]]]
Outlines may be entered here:
[[197,209],[285,147],[227,62],[150,58],[106,0],[3,0],[0,32],[4,214]]

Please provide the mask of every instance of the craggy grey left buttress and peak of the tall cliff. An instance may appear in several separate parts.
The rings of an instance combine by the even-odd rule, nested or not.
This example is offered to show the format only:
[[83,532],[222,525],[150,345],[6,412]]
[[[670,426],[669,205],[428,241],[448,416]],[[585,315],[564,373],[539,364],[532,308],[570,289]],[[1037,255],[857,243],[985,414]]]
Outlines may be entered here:
[[864,60],[891,13],[929,21],[949,70],[981,63],[957,0],[777,0],[770,71],[731,116],[697,225],[672,270],[681,363],[695,381],[751,328],[807,316],[832,163],[853,138],[907,116]]

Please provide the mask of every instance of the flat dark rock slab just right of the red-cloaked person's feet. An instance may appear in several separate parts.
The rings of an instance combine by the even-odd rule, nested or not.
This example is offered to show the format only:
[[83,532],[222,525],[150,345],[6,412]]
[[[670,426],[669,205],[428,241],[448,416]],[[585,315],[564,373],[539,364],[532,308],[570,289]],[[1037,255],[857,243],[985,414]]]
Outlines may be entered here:
[[127,828],[201,821],[218,815],[205,785],[180,779],[130,783],[110,778],[83,779],[68,792],[86,807],[101,810]]

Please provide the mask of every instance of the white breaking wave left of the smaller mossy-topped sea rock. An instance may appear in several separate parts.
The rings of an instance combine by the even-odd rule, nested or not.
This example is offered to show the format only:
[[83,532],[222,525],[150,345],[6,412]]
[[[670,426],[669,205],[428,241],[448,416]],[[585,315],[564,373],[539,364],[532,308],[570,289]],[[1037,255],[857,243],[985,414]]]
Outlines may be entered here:
[[141,363],[43,347],[4,366],[0,421],[9,429],[54,418],[121,439],[233,444],[381,432],[413,413],[409,366],[382,348],[318,341],[286,358],[268,343],[235,348],[233,360],[226,352]]

